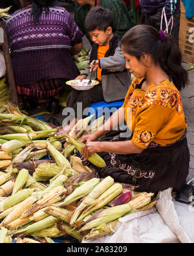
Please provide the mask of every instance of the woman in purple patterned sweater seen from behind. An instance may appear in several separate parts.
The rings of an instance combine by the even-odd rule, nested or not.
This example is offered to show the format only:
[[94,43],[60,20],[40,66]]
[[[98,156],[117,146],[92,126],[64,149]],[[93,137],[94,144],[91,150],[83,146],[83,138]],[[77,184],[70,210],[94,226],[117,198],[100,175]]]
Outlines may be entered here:
[[58,98],[65,80],[78,69],[72,55],[82,48],[82,32],[54,0],[20,0],[21,10],[7,19],[7,34],[17,93],[28,97],[25,107],[36,108],[34,99],[50,99],[48,111],[59,111]]

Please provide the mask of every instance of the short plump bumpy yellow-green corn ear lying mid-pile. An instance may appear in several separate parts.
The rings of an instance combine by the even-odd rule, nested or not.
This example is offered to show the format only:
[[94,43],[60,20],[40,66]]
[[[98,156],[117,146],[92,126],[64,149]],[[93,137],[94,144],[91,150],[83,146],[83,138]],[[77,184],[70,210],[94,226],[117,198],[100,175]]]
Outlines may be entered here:
[[36,180],[49,180],[56,176],[61,171],[61,168],[54,163],[41,163],[35,169],[33,177]]

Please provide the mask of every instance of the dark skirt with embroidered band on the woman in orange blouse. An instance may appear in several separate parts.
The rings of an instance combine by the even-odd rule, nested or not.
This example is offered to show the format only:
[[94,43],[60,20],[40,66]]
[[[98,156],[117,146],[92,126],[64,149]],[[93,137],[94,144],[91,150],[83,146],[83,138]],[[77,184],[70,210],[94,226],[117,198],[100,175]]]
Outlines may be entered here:
[[[129,138],[130,139],[130,138]],[[111,132],[100,141],[124,141],[120,132]],[[97,172],[97,176],[111,176],[114,181],[138,185],[136,191],[158,192],[173,187],[179,192],[184,187],[189,173],[189,148],[186,136],[173,145],[154,145],[141,154],[118,155],[107,152],[98,153],[107,166],[98,168],[87,159],[83,165]]]

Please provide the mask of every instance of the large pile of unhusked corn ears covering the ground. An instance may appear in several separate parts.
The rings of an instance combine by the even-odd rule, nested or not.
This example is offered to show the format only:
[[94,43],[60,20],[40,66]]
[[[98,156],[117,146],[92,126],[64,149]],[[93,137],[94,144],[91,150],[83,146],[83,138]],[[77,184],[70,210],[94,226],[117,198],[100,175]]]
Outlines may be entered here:
[[[83,146],[81,135],[94,132],[103,117],[87,117],[68,135],[56,135],[58,129],[15,106],[5,108],[7,113],[0,114],[0,242],[102,237],[114,231],[120,217],[156,204],[153,193],[135,192],[135,186],[116,183],[110,176],[96,178],[74,155]],[[98,154],[89,161],[105,167]]]

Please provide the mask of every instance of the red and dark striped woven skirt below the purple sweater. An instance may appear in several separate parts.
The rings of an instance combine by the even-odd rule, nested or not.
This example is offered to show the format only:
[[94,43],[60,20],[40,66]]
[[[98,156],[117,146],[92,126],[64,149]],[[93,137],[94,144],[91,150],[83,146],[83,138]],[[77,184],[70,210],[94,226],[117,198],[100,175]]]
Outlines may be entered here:
[[50,99],[56,96],[65,84],[63,78],[41,79],[33,84],[17,85],[17,94],[36,99]]

